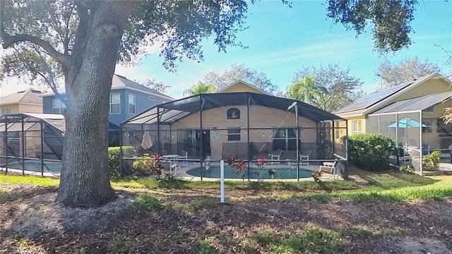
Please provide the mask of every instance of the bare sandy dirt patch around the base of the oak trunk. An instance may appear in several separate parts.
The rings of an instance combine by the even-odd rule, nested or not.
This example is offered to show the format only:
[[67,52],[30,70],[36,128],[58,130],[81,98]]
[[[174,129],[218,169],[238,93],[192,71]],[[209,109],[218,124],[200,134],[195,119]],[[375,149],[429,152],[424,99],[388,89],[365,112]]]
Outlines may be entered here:
[[54,188],[41,189],[37,195],[19,196],[17,200],[1,207],[0,212],[8,214],[1,227],[5,234],[20,232],[30,238],[52,236],[65,231],[88,234],[116,226],[119,220],[135,212],[131,195],[119,194],[112,202],[97,208],[64,207],[55,202],[57,193]]

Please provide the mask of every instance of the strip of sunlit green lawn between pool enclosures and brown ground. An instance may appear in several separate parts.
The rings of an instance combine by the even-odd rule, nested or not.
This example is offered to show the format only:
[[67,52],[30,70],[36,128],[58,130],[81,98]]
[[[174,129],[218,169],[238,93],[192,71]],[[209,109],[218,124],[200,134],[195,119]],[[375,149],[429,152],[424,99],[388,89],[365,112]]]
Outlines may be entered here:
[[[275,182],[264,181],[242,182],[226,181],[225,187],[231,190],[268,191],[260,198],[297,198],[326,202],[331,199],[372,202],[376,200],[397,202],[415,199],[444,200],[452,196],[452,176],[417,176],[401,174],[397,171],[372,173],[360,169],[352,169],[352,174],[360,176],[369,183],[367,187],[359,187],[352,181],[300,181]],[[0,182],[14,184],[32,184],[35,186],[57,187],[59,179],[40,176],[14,176],[0,174]],[[219,181],[157,181],[155,179],[119,179],[112,181],[114,188],[177,188],[177,189],[219,189]],[[283,191],[283,192],[281,192]],[[315,193],[312,193],[312,192]]]

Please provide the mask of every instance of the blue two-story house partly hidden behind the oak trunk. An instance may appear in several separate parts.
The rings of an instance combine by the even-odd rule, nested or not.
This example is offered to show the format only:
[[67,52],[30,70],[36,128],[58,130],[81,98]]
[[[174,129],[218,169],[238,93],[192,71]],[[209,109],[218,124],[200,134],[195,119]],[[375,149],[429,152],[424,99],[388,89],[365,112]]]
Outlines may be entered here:
[[[66,97],[64,88],[58,90]],[[119,125],[126,119],[140,114],[156,104],[174,100],[174,98],[140,85],[121,75],[113,75],[112,90],[109,96],[109,145],[119,145]],[[42,111],[49,114],[62,114],[64,103],[53,92],[42,95]]]

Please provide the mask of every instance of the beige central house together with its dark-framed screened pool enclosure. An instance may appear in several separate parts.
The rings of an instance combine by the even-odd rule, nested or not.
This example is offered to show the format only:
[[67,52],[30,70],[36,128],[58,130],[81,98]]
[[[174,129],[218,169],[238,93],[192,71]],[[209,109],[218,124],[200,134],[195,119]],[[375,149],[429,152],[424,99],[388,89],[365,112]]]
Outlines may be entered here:
[[[339,153],[342,145],[331,140],[340,130],[328,126],[345,120],[300,101],[295,106],[297,118],[295,107],[288,109],[294,102],[237,81],[215,93],[156,105],[129,119],[124,131],[131,131],[123,136],[123,144],[141,147],[143,135],[149,135],[150,152],[164,155],[196,159],[229,159],[232,155],[239,159],[269,159],[276,155],[296,159],[299,126],[299,155],[324,159]],[[345,149],[343,152],[345,157]]]

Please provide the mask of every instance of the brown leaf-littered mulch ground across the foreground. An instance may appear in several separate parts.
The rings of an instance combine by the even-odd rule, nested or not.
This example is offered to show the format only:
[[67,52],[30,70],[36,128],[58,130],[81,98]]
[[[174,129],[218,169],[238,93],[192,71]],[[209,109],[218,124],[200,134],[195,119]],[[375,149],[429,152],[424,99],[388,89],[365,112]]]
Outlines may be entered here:
[[[346,232],[338,253],[452,253],[449,200],[316,203],[230,191],[227,205],[143,213],[133,209],[137,194],[129,191],[97,209],[62,207],[54,202],[55,188],[4,184],[0,191],[15,197],[0,204],[0,253],[203,253],[199,242],[208,237],[218,253],[267,253],[258,245],[251,251],[244,240],[257,230],[293,234],[309,225]],[[152,192],[165,202],[219,200],[215,190]]]

